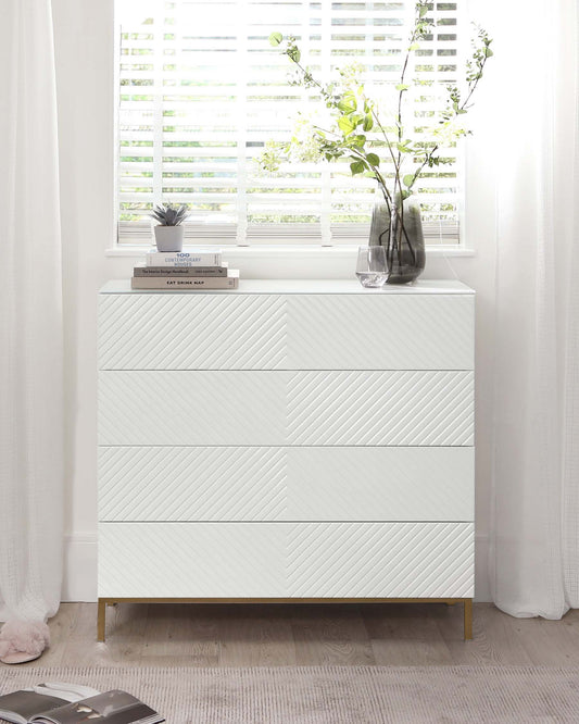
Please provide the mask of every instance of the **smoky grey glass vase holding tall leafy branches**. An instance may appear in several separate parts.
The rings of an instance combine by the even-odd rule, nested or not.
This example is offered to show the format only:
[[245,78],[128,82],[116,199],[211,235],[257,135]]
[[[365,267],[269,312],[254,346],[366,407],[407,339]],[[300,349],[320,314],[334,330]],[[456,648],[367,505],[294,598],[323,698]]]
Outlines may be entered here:
[[386,249],[387,284],[407,284],[424,272],[426,253],[420,202],[414,195],[389,210],[380,189],[377,191],[372,214],[369,245]]

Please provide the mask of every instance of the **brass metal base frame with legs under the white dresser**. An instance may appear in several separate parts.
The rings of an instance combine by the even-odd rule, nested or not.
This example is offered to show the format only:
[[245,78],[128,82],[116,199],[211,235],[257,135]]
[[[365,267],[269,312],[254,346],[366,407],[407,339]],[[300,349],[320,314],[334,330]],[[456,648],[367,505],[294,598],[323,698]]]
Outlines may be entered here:
[[115,603],[463,603],[464,638],[473,638],[471,598],[99,598],[98,641],[104,641],[106,607]]

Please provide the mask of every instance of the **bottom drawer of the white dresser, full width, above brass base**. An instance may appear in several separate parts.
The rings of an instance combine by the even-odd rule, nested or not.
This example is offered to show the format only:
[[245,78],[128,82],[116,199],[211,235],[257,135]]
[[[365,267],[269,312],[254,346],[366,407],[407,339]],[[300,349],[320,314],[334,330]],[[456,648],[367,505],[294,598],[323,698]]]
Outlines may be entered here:
[[101,523],[102,598],[469,598],[471,523]]

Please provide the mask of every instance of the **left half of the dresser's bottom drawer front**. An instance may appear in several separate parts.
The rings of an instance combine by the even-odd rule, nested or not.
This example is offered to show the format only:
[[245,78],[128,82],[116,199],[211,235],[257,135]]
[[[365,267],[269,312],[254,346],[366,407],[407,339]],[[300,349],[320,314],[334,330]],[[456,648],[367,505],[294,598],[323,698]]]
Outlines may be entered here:
[[101,523],[99,596],[276,597],[286,589],[275,523]]

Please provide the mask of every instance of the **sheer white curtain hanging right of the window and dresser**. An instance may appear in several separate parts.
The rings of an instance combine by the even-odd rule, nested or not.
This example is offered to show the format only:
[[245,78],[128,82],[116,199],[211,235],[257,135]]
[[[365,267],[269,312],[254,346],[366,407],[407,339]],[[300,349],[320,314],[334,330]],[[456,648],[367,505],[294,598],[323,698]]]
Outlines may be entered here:
[[[579,606],[579,153],[575,0],[496,13],[495,603]],[[493,59],[494,60],[494,59]]]

